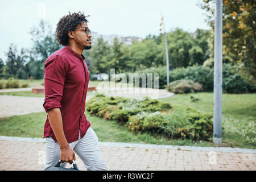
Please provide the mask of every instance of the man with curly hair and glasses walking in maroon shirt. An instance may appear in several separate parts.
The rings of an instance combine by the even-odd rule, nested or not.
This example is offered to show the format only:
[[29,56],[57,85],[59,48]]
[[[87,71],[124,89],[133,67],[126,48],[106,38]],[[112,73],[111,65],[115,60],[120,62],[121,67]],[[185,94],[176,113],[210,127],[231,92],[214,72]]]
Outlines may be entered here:
[[[98,137],[86,119],[85,101],[89,71],[82,55],[91,48],[91,32],[83,13],[69,13],[57,23],[56,39],[64,48],[44,64],[44,125],[46,168],[61,160],[61,166],[76,160],[75,152],[88,170],[107,170]],[[75,151],[75,152],[74,152]]]

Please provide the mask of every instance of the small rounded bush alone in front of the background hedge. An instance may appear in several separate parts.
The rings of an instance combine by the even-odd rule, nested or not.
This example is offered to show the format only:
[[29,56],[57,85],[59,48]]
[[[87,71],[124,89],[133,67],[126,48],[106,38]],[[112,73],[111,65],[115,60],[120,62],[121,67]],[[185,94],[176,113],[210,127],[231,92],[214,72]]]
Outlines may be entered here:
[[176,94],[194,93],[203,91],[203,86],[198,82],[193,82],[192,80],[176,80],[170,82],[167,90]]

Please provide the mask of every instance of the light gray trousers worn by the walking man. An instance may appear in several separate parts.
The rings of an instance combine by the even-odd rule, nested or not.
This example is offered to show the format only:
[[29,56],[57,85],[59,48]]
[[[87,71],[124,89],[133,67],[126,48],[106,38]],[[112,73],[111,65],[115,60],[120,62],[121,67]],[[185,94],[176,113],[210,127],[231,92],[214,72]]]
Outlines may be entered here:
[[[69,143],[69,146],[79,158],[84,162],[88,171],[106,171],[105,160],[98,146],[98,137],[92,127],[86,131],[84,137]],[[51,137],[46,138],[46,169],[55,166],[60,159],[59,143],[55,142]],[[61,163],[60,166],[65,167],[67,163]]]

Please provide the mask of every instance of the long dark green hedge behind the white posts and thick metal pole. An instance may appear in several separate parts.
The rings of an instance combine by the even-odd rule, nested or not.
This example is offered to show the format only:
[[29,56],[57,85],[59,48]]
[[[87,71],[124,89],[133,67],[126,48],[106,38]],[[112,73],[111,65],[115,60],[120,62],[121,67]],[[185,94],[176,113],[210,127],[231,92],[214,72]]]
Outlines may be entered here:
[[[141,71],[141,73],[159,73],[159,88],[166,88],[166,67],[148,68]],[[125,73],[127,78],[129,73]],[[177,68],[170,71],[170,82],[176,80],[192,80],[203,85],[205,92],[213,92],[214,69],[210,67],[202,67],[200,65],[193,65],[187,68]],[[141,84],[140,84],[141,85]],[[154,80],[152,81],[154,88]],[[253,93],[256,92],[256,86],[247,84],[246,81],[238,74],[238,67],[230,63],[223,64],[222,67],[222,89],[224,93]]]

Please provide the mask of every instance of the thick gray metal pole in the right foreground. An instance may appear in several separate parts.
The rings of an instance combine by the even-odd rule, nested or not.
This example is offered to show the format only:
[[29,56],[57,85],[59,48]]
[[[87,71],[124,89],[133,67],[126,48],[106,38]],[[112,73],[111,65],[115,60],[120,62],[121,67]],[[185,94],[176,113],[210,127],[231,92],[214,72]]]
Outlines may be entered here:
[[214,22],[214,111],[213,142],[221,145],[222,132],[222,0],[216,0]]

